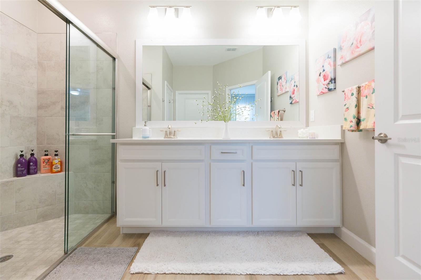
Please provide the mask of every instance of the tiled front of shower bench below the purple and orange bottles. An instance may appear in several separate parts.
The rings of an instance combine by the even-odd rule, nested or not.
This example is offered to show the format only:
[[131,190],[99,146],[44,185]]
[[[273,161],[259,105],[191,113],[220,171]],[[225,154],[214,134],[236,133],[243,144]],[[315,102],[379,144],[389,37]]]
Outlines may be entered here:
[[[0,181],[0,231],[64,216],[64,173]],[[72,181],[73,176],[69,174]],[[69,192],[69,211],[74,207]]]

